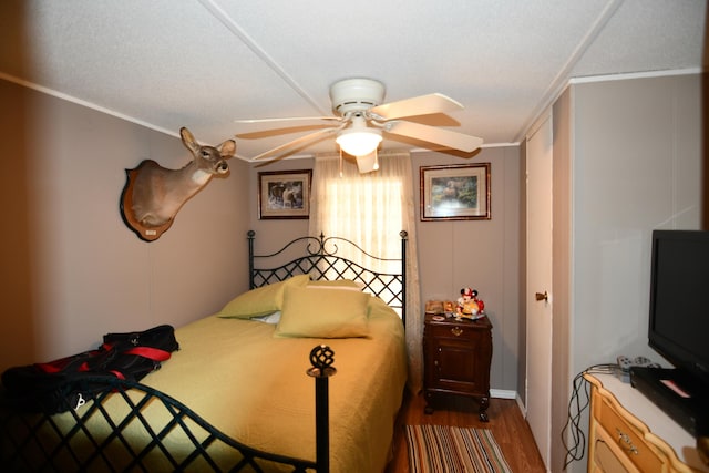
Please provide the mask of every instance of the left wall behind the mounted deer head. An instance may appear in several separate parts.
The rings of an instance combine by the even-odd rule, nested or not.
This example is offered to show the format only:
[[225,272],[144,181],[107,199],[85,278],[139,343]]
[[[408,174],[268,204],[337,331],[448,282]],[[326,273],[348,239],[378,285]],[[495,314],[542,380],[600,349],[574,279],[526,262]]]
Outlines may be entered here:
[[0,191],[0,370],[94,348],[109,331],[184,325],[247,288],[245,163],[232,160],[228,178],[145,243],[119,212],[125,168],[182,167],[179,138],[4,81],[0,103],[12,172]]

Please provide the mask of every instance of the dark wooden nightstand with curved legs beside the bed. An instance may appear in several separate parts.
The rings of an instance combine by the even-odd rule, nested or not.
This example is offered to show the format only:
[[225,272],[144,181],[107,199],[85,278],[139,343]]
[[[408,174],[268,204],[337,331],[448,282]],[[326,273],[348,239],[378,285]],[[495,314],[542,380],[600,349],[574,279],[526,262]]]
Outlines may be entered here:
[[492,323],[487,317],[475,321],[433,320],[429,313],[424,323],[424,412],[433,412],[438,394],[466,395],[477,400],[480,420],[487,422]]

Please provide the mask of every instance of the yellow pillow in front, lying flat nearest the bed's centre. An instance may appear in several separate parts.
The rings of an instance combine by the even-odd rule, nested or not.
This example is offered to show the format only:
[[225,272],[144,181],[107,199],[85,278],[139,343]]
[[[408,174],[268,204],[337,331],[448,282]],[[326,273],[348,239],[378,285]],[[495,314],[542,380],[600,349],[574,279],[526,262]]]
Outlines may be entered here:
[[287,287],[276,337],[367,337],[367,304],[359,290]]

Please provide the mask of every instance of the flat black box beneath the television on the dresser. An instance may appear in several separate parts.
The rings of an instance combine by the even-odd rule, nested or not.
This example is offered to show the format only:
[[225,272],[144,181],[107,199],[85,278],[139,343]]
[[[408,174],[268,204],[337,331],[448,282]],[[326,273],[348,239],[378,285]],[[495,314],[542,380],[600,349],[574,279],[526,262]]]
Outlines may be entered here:
[[685,371],[630,368],[630,384],[695,438],[709,432],[709,387]]

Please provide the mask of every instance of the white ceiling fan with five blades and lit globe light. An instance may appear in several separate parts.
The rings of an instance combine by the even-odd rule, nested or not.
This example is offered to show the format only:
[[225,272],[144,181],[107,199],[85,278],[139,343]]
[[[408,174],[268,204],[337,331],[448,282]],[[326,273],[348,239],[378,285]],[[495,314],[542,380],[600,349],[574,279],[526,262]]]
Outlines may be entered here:
[[240,123],[263,123],[278,121],[326,120],[327,126],[305,136],[268,150],[251,161],[270,157],[276,161],[298,147],[308,145],[327,135],[336,135],[342,152],[354,156],[360,173],[379,168],[377,148],[382,141],[382,132],[432,143],[446,148],[472,153],[483,140],[436,126],[401,120],[410,116],[429,115],[462,110],[463,105],[440,93],[382,103],[384,84],[372,79],[346,79],[330,86],[333,116],[237,120]]

